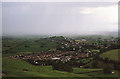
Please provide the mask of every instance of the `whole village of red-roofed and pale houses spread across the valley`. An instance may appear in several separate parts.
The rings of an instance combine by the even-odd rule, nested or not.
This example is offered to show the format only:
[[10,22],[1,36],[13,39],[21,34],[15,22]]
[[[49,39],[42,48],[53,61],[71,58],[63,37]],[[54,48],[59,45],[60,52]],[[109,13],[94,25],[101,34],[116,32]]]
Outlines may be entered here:
[[[14,56],[10,56],[10,58],[21,59],[21,60],[33,59],[34,61],[60,60],[64,63],[70,61],[71,59],[80,59],[80,58],[84,59],[84,58],[93,57],[96,54],[100,53],[99,49],[102,48],[107,49],[110,47],[110,44],[104,45],[104,44],[90,43],[86,39],[82,39],[79,41],[67,39],[62,42],[52,39],[51,41],[55,41],[58,43],[58,46],[56,47],[55,50],[33,52],[32,54],[25,54],[25,55],[14,55]],[[38,62],[35,63],[38,64]]]

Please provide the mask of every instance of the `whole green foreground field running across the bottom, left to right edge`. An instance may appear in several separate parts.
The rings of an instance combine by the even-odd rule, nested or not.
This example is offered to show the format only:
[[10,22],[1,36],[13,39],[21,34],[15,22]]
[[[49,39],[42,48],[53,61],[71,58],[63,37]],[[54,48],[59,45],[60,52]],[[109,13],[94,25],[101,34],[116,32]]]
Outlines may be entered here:
[[[103,69],[73,68],[73,72],[52,70],[52,66],[35,66],[25,61],[3,58],[3,77],[115,77],[115,74],[103,74]],[[27,69],[28,71],[24,71]]]

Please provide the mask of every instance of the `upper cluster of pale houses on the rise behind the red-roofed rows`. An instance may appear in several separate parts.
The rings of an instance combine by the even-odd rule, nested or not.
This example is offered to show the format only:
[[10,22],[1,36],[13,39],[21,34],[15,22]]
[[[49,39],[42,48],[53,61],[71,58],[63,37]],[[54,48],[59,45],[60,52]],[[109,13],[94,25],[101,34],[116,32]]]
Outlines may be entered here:
[[[111,42],[111,40],[107,40],[107,41]],[[84,49],[84,52],[86,52],[86,50],[89,49],[91,46],[93,47],[92,49],[101,49],[101,48],[110,47],[110,44],[101,44],[98,42],[89,42],[86,39],[68,40],[68,41],[61,42],[58,49],[72,50],[72,51],[79,51],[79,52],[81,51],[81,49]],[[90,52],[91,51],[89,51],[89,53]],[[83,51],[81,51],[81,53],[83,53]]]

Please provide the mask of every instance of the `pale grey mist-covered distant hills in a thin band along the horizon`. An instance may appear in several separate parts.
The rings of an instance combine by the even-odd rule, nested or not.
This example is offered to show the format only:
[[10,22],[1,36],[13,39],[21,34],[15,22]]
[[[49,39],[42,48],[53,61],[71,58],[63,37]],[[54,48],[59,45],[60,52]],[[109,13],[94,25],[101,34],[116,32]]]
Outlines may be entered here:
[[26,35],[17,35],[17,34],[3,34],[3,37],[15,37],[15,38],[46,38],[52,36],[64,36],[64,37],[79,37],[79,36],[113,36],[117,37],[118,32],[84,32],[84,33],[58,33],[58,34],[26,34]]

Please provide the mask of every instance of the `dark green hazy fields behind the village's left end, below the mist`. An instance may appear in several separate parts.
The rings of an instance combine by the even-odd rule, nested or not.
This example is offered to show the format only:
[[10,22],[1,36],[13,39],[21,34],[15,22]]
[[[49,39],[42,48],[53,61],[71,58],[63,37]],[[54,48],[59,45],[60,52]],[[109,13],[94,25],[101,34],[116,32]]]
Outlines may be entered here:
[[3,40],[2,52],[4,54],[25,54],[25,52],[33,53],[53,49],[56,49],[56,43],[47,39],[7,39]]

